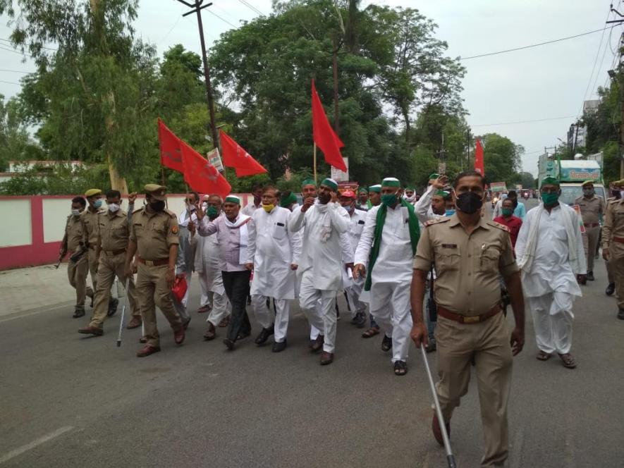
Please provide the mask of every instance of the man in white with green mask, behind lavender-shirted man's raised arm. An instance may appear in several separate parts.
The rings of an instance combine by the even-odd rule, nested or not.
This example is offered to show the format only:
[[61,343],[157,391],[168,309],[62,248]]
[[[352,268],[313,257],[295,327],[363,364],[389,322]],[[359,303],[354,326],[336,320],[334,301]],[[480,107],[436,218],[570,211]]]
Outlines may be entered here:
[[[224,216],[221,211],[223,202],[219,195],[211,195],[207,199],[207,204],[202,207],[206,211],[210,221]],[[228,316],[228,297],[224,288],[223,277],[221,276],[221,266],[219,264],[219,240],[216,235],[203,236],[192,233],[191,245],[195,246],[195,271],[200,278],[202,287],[202,304],[209,304],[206,312],[210,311],[208,318],[208,329],[204,333],[204,340],[214,340],[216,337],[216,326],[221,320]],[[205,291],[205,297],[204,297]],[[200,312],[198,310],[197,312]]]

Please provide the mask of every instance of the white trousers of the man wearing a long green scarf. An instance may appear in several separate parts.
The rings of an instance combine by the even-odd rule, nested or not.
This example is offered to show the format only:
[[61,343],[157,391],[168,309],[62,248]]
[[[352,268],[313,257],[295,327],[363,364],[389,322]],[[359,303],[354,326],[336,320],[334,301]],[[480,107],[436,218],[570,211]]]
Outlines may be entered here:
[[407,361],[412,315],[409,283],[373,283],[370,289],[370,313],[392,337],[392,362]]

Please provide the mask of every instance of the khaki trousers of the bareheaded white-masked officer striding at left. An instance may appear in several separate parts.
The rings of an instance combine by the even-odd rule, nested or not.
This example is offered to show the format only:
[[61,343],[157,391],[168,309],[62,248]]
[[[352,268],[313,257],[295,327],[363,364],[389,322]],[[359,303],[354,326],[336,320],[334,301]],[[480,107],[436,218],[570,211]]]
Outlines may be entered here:
[[[93,300],[93,314],[91,316],[91,326],[102,328],[106,316],[109,312],[109,300],[111,299],[111,286],[118,281],[126,286],[126,275],[124,273],[124,264],[126,263],[126,252],[118,255],[107,254],[102,251],[99,255],[99,266],[97,269],[97,288],[95,289],[95,297]],[[140,310],[136,301],[135,282],[132,277],[128,282],[128,302],[130,302],[130,311],[133,316],[140,318]]]

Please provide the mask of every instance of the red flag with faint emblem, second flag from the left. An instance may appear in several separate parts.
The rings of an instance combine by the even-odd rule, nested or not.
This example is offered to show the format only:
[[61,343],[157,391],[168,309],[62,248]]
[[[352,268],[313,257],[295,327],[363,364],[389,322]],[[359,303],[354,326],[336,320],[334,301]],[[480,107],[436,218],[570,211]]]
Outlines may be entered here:
[[224,176],[201,154],[181,141],[184,181],[195,192],[209,193],[226,197],[232,190]]

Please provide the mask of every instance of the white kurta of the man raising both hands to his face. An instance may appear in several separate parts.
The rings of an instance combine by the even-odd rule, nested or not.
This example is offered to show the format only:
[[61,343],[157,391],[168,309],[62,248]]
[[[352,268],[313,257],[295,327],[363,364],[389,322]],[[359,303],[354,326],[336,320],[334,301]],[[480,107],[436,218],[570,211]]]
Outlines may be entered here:
[[[349,215],[337,203],[313,205],[305,213],[295,208],[289,230],[303,232],[302,254],[297,275],[310,270],[317,290],[342,290],[342,249],[340,235],[348,230]],[[322,234],[329,228],[329,237]],[[326,234],[326,233],[325,233]]]

